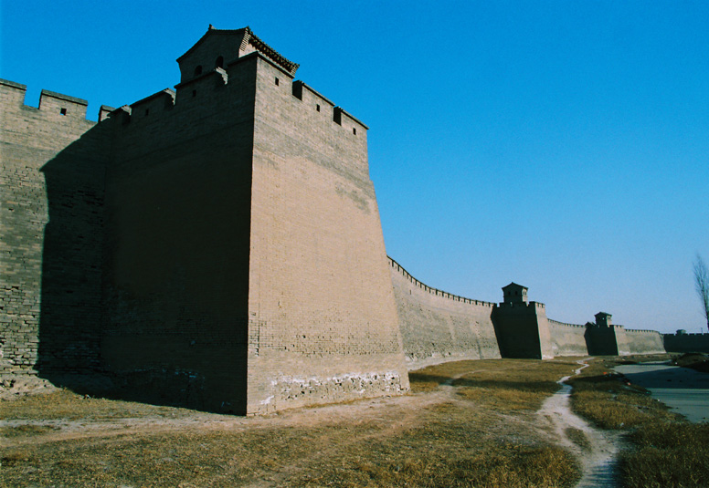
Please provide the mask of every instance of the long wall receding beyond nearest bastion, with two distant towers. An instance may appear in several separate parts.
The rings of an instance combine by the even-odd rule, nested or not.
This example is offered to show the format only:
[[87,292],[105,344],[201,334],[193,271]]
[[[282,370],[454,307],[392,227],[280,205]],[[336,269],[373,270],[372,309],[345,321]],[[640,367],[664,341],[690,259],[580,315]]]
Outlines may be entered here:
[[[546,306],[527,302],[525,286],[503,287],[500,304],[428,286],[389,257],[399,327],[408,369],[485,358],[656,354],[661,334],[607,322],[566,324],[546,317]],[[598,318],[598,317],[597,317]]]

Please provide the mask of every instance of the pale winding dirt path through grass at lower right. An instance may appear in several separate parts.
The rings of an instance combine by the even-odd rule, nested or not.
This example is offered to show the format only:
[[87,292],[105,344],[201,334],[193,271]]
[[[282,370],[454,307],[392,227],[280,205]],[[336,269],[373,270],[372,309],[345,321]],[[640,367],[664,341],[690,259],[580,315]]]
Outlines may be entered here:
[[[577,362],[583,366],[572,376],[576,376],[588,366],[583,359]],[[570,378],[571,376],[566,376],[557,381],[562,389],[545,400],[537,413],[544,419],[547,427],[555,432],[561,445],[574,452],[581,463],[583,477],[578,482],[577,488],[618,486],[616,454],[619,451],[619,436],[593,428],[571,410],[571,386],[566,384]],[[575,439],[580,437],[574,435],[574,432],[579,431],[583,432],[587,442],[572,440],[572,436]]]

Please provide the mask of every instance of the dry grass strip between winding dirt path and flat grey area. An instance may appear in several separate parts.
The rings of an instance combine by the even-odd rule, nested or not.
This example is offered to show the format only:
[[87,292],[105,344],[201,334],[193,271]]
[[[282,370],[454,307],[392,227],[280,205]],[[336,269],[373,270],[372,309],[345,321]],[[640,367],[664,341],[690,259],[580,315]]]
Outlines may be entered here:
[[629,447],[619,460],[627,488],[691,488],[709,485],[709,424],[693,424],[631,385],[612,368],[629,360],[596,358],[576,378],[573,410],[601,429],[627,432]]

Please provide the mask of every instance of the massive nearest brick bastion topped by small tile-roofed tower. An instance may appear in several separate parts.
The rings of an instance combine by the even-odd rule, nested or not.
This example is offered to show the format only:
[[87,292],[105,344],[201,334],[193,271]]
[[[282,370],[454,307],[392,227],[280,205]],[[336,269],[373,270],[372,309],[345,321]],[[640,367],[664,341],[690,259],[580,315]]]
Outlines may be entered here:
[[111,114],[106,367],[259,413],[408,389],[367,127],[249,27]]

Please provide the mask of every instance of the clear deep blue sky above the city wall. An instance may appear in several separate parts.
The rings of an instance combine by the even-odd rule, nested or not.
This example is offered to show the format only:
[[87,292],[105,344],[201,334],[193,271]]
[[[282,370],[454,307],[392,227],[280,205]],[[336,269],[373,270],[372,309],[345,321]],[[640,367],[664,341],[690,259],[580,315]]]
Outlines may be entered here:
[[430,286],[557,320],[705,326],[709,2],[2,0],[0,77],[119,107],[250,26],[369,130],[388,254]]

